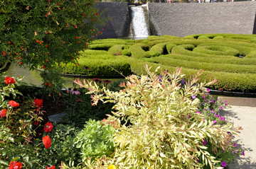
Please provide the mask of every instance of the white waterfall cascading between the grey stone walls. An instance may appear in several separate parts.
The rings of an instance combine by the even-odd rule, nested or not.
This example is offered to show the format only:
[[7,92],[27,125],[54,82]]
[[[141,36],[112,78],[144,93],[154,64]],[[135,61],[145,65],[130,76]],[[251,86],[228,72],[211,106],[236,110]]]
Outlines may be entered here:
[[129,37],[148,37],[149,26],[146,24],[146,17],[143,7],[131,7],[132,23]]

